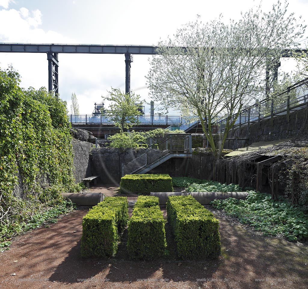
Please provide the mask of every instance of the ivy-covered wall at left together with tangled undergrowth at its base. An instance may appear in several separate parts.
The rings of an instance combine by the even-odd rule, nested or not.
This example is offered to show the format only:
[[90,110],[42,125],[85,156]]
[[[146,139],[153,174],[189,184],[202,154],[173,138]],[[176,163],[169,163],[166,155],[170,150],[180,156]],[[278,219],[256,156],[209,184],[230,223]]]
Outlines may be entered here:
[[79,191],[66,102],[45,88],[21,89],[0,69],[0,251],[10,238],[72,210],[61,192]]

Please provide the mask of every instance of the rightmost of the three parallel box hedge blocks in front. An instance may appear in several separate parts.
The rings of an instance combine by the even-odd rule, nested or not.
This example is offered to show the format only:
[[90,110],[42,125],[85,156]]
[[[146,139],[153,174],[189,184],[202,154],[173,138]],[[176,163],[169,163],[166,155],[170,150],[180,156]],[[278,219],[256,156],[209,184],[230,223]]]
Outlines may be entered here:
[[219,221],[192,196],[169,196],[167,218],[180,258],[199,259],[220,254]]

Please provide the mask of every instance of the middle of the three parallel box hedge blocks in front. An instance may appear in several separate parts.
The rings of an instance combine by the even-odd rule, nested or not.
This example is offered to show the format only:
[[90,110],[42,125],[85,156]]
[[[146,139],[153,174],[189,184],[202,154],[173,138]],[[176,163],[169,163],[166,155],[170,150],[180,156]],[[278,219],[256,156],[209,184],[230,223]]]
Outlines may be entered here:
[[132,259],[154,259],[164,254],[167,246],[163,213],[159,199],[139,196],[128,222],[127,250]]

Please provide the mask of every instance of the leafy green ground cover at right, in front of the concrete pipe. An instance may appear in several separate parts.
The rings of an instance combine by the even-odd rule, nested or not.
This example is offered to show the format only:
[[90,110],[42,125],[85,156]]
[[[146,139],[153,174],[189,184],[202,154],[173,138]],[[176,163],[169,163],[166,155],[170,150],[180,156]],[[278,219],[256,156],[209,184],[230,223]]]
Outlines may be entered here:
[[245,200],[214,200],[213,207],[238,218],[264,235],[284,236],[290,241],[308,238],[308,214],[287,199],[250,191]]

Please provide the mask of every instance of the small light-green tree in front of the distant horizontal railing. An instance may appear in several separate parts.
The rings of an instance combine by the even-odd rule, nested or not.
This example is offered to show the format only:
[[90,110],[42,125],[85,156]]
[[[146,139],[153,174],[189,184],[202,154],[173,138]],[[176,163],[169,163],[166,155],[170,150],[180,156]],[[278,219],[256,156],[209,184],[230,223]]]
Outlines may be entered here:
[[137,119],[137,116],[142,114],[140,111],[142,106],[140,95],[135,95],[134,93],[125,94],[119,88],[112,87],[108,93],[110,96],[104,99],[110,101],[111,104],[109,109],[106,110],[105,115],[114,122],[115,126],[120,128],[121,132],[140,123]]

